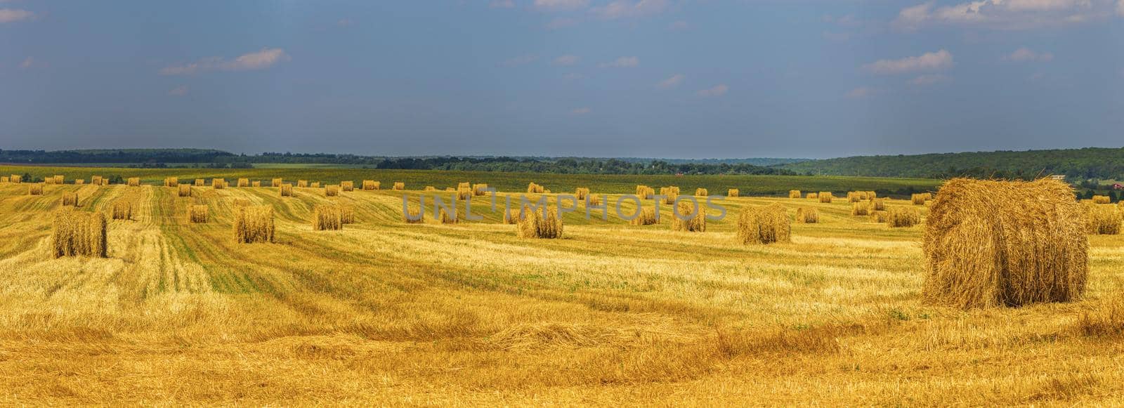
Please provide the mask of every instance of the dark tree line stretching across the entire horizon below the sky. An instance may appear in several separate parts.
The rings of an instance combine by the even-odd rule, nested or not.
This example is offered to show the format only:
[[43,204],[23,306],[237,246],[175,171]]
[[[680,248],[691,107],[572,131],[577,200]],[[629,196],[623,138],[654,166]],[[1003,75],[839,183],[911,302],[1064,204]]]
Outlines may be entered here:
[[346,164],[370,169],[462,170],[572,174],[785,174],[948,179],[1034,179],[1066,175],[1071,182],[1124,180],[1124,148],[972,152],[895,156],[799,158],[586,158],[491,156],[362,156],[325,153],[234,154],[215,149],[3,151],[0,162],[25,164],[118,163],[161,167],[169,163],[252,167],[260,163]]

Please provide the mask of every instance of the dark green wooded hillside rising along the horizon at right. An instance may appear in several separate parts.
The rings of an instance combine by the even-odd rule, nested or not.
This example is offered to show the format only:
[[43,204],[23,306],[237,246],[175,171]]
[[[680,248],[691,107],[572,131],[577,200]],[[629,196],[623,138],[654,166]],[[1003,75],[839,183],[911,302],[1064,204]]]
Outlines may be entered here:
[[853,156],[787,163],[774,167],[825,175],[1033,178],[1040,174],[1064,174],[1075,179],[1122,179],[1124,148]]

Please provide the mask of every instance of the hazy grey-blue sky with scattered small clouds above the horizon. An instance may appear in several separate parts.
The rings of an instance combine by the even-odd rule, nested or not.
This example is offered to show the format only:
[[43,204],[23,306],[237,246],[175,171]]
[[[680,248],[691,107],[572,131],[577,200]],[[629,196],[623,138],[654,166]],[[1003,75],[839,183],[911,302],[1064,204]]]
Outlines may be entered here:
[[0,0],[0,148],[1124,145],[1124,0]]

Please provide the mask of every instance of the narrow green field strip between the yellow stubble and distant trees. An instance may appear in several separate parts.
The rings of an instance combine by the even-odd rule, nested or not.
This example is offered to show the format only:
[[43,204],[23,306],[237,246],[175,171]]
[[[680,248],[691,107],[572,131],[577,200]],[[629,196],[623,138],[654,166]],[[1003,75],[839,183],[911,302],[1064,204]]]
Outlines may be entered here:
[[813,175],[645,175],[645,174],[543,174],[506,172],[461,172],[430,170],[368,170],[368,169],[120,169],[120,167],[47,167],[47,166],[0,166],[0,174],[30,174],[35,179],[62,174],[67,183],[73,179],[89,180],[92,175],[121,178],[138,176],[142,183],[160,184],[164,178],[183,180],[212,178],[247,178],[269,182],[273,178],[285,181],[308,180],[335,184],[351,180],[356,184],[363,180],[381,181],[384,187],[401,181],[408,190],[420,190],[425,185],[438,189],[455,187],[457,182],[488,183],[500,191],[523,191],[527,183],[536,182],[554,192],[573,191],[587,187],[596,192],[627,193],[635,191],[636,184],[652,187],[679,185],[688,189],[705,188],[711,194],[725,194],[727,189],[738,189],[742,194],[787,196],[789,190],[832,191],[843,193],[851,190],[873,190],[882,196],[904,194],[907,190],[930,191],[940,185],[934,179],[892,179],[856,176]]

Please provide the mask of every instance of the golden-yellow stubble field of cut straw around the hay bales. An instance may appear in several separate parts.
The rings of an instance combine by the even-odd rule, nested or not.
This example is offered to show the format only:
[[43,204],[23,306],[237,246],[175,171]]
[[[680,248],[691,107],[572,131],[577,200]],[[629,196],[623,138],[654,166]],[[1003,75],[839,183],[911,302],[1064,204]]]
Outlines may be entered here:
[[[960,311],[919,303],[924,225],[845,199],[727,199],[701,234],[669,206],[569,214],[563,239],[518,239],[479,198],[483,221],[407,225],[400,191],[293,190],[0,184],[0,405],[1124,404],[1122,337],[1077,324],[1124,292],[1121,236],[1089,238],[1086,300]],[[51,256],[74,191],[136,200],[108,259]],[[234,243],[239,198],[275,208],[275,244]],[[312,230],[329,201],[356,224]],[[821,224],[735,244],[737,211],[772,202]]]

